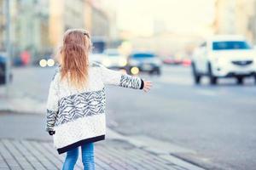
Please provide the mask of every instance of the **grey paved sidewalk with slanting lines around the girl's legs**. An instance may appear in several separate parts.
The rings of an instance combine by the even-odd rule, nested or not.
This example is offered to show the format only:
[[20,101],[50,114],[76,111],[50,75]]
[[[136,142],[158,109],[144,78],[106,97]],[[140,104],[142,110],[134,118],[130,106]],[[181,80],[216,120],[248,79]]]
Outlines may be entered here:
[[[121,140],[96,143],[96,169],[176,169],[172,161]],[[0,139],[0,169],[61,169],[65,154],[57,154],[51,142]],[[81,157],[75,169],[83,169]]]

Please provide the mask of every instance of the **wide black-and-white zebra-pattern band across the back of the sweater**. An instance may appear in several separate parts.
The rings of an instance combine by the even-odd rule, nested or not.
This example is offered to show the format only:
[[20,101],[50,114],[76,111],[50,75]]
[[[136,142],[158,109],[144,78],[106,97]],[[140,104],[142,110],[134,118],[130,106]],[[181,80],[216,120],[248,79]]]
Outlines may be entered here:
[[60,99],[59,114],[55,126],[74,121],[84,116],[102,114],[106,105],[105,89],[82,94],[73,94]]

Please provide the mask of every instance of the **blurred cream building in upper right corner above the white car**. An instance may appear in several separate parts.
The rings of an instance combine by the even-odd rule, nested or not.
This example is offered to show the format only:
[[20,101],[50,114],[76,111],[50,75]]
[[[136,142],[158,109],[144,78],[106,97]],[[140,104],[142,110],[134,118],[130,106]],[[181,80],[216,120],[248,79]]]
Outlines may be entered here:
[[255,42],[255,29],[253,28],[255,26],[255,2],[255,0],[217,0],[214,32],[241,34],[251,42]]

